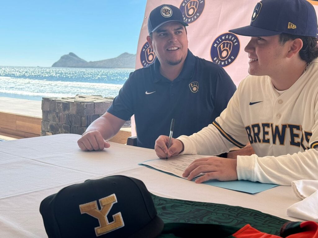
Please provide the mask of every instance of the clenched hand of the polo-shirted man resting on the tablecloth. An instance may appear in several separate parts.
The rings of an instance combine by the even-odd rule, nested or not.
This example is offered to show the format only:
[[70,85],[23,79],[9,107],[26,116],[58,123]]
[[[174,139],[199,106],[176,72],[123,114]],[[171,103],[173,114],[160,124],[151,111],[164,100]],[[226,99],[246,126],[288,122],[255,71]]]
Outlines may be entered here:
[[82,135],[82,137],[77,141],[79,148],[81,150],[103,150],[104,148],[109,148],[110,144],[104,140],[103,136],[99,131],[89,131]]

